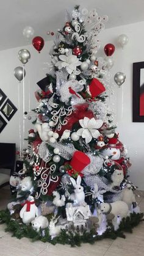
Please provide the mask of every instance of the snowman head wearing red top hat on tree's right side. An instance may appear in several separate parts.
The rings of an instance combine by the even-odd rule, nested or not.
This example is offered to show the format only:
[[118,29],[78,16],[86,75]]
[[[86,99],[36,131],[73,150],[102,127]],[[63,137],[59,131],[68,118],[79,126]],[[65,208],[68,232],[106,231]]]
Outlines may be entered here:
[[117,137],[109,138],[109,144],[107,145],[107,148],[102,151],[102,154],[104,158],[107,158],[107,156],[112,160],[118,160],[121,157],[120,152],[121,145],[118,143]]

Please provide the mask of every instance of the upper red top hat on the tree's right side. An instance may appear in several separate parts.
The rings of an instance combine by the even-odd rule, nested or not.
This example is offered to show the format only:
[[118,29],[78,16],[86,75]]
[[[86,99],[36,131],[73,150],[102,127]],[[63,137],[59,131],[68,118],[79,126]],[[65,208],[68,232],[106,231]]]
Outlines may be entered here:
[[106,88],[103,84],[96,78],[92,79],[92,82],[89,85],[89,91],[92,95],[92,98],[97,97],[99,94],[105,92]]

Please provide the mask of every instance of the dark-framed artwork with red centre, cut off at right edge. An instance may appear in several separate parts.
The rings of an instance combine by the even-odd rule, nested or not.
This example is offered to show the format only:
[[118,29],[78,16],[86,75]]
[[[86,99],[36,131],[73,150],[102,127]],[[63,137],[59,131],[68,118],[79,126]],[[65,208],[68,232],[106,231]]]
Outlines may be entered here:
[[144,62],[133,63],[132,122],[144,122]]

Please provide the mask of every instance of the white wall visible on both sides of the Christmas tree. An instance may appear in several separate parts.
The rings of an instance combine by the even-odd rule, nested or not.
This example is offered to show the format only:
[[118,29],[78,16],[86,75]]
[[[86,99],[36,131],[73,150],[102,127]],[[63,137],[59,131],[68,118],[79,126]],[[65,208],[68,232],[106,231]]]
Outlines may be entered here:
[[[128,146],[129,156],[131,157],[131,180],[139,186],[140,189],[144,189],[144,123],[132,123],[132,63],[144,61],[144,34],[143,34],[144,22],[129,24],[121,27],[114,27],[112,29],[106,29],[101,34],[101,49],[106,43],[114,43],[116,46],[115,54],[115,66],[112,68],[112,76],[117,71],[123,71],[126,73],[126,82],[119,89],[117,86],[113,88],[115,90],[115,96],[112,97],[113,111],[116,113],[115,119],[118,122],[117,131],[120,133],[121,141]],[[127,34],[129,37],[129,43],[125,49],[121,49],[117,45],[117,37],[120,34]],[[14,48],[5,51],[0,51],[0,78],[1,89],[4,90],[7,97],[12,100],[13,104],[18,108],[18,81],[13,76],[13,69],[21,62],[18,60],[17,54],[19,49],[29,49],[31,52],[31,60],[26,64],[26,78],[25,84],[25,111],[29,111],[37,106],[37,100],[35,100],[34,92],[38,89],[37,81],[45,77],[45,71],[43,71],[44,62],[49,61],[49,48],[52,42],[46,42],[45,48],[38,54],[32,46],[24,46],[21,48]],[[23,83],[20,84],[21,89],[21,119],[23,119]],[[0,134],[1,142],[16,142],[17,148],[20,145],[19,134],[19,117],[20,111],[17,111],[12,120],[4,128]],[[23,120],[21,120],[23,122]],[[31,128],[31,120],[25,120],[25,137],[27,137],[27,131]],[[23,127],[21,127],[23,131]],[[23,141],[23,137],[21,138]],[[21,145],[23,147],[23,145]]]

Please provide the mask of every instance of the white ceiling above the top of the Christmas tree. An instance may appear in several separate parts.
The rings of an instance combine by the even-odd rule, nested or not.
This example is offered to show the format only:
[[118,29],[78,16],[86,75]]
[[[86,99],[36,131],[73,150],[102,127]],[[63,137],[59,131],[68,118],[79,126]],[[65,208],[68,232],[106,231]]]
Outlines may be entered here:
[[4,0],[0,5],[0,50],[26,45],[25,26],[32,26],[35,36],[51,40],[46,32],[54,31],[65,22],[65,9],[79,4],[99,15],[108,15],[106,27],[144,21],[144,0]]

